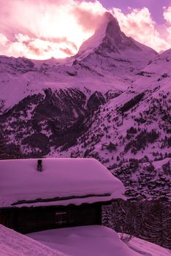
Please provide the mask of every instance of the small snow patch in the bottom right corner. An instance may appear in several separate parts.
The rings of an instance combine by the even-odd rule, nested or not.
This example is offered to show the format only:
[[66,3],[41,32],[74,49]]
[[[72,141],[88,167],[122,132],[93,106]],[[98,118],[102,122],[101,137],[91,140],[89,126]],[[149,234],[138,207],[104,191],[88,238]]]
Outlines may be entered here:
[[141,255],[146,255],[146,256],[170,256],[171,255],[170,249],[166,249],[157,244],[153,244],[136,237],[133,237],[129,241],[128,246],[134,249],[136,252],[139,252]]

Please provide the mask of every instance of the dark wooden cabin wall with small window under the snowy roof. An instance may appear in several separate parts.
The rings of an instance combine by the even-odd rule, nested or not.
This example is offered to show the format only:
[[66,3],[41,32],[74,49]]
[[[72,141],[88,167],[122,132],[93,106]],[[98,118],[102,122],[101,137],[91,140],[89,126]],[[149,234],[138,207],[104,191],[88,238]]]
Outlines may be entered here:
[[[60,214],[63,214],[62,217]],[[101,225],[102,206],[101,203],[94,203],[81,206],[9,208],[0,211],[0,223],[20,233],[58,227]]]

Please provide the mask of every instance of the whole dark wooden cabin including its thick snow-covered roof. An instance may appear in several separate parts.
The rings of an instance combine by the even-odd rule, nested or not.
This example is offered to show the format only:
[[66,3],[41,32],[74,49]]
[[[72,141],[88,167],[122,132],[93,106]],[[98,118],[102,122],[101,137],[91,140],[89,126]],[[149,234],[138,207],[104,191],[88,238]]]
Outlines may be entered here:
[[96,159],[0,161],[0,223],[20,233],[100,225],[124,187]]

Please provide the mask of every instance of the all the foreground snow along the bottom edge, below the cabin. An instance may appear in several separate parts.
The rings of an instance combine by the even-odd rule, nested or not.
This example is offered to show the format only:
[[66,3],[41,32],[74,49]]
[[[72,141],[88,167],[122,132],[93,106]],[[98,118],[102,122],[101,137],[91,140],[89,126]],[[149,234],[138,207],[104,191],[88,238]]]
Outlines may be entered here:
[[171,252],[139,238],[124,244],[115,231],[99,225],[45,230],[27,236],[0,225],[0,256],[138,255],[170,256]]

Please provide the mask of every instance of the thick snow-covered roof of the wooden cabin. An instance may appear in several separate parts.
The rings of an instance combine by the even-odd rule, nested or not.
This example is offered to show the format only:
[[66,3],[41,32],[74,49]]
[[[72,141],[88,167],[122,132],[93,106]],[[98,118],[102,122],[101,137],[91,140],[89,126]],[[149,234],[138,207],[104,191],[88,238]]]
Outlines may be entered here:
[[118,178],[96,159],[0,161],[0,207],[67,206],[123,198]]

